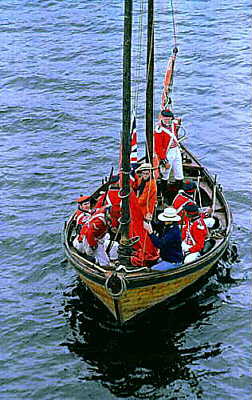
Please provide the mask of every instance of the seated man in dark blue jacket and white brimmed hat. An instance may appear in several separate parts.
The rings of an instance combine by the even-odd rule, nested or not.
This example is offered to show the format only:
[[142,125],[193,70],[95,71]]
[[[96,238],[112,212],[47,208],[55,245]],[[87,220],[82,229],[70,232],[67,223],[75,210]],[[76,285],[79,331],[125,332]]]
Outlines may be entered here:
[[144,227],[154,246],[160,249],[161,261],[153,265],[151,269],[166,271],[182,264],[181,233],[178,226],[180,217],[173,207],[167,207],[163,213],[159,214],[158,219],[164,223],[164,230],[159,237],[153,233],[150,224],[145,223]]

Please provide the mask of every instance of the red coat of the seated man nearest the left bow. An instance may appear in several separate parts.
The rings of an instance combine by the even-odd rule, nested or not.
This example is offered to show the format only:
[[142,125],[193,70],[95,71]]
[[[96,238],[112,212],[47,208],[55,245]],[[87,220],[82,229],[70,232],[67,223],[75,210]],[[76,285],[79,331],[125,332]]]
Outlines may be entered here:
[[99,239],[102,239],[108,230],[105,220],[105,208],[101,207],[96,210],[91,218],[83,225],[78,240],[81,242],[84,236],[87,239],[89,246],[97,247]]

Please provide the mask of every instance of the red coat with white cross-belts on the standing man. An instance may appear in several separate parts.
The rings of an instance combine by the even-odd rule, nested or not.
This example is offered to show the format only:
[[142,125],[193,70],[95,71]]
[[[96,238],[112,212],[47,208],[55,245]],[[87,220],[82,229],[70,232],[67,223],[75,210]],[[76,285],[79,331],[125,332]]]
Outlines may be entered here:
[[[159,160],[164,160],[167,157],[167,149],[178,146],[178,130],[179,121],[173,120],[172,127],[163,127],[161,123],[158,123],[154,131],[154,148]],[[172,135],[173,132],[173,135]],[[172,137],[175,136],[175,139]],[[170,144],[171,142],[171,144]]]

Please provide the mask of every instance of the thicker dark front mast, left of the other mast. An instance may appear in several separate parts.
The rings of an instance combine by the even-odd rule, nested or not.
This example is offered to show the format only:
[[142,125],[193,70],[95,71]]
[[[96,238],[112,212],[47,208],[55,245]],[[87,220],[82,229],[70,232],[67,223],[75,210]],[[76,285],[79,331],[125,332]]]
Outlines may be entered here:
[[132,38],[132,1],[124,2],[124,40],[123,40],[123,127],[121,137],[122,171],[122,217],[121,244],[129,237],[129,197],[130,192],[130,122],[131,122],[131,38]]

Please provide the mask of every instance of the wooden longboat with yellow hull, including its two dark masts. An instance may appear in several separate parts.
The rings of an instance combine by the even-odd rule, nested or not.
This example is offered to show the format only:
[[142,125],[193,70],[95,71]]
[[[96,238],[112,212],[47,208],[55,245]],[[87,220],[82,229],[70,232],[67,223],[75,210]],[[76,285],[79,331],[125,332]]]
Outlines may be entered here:
[[[123,41],[123,107],[122,107],[122,135],[121,135],[121,188],[124,193],[130,192],[130,134],[131,134],[131,36],[132,36],[132,6],[133,0],[124,1],[124,41]],[[154,7],[153,0],[148,0],[147,26],[147,82],[146,82],[146,155],[142,161],[153,163],[153,76],[154,76]],[[174,21],[174,18],[173,18]],[[175,32],[175,29],[173,29]],[[173,70],[177,53],[176,41],[173,49],[171,67],[166,73],[166,92],[171,95]],[[164,93],[164,92],[163,92]],[[167,97],[168,99],[168,97]],[[119,324],[123,324],[139,314],[150,310],[155,305],[167,299],[183,296],[185,289],[193,286],[201,278],[206,277],[213,270],[228,248],[231,234],[232,217],[227,201],[216,182],[199,160],[181,144],[183,155],[183,170],[185,179],[192,179],[197,183],[197,201],[202,207],[213,205],[216,224],[209,229],[209,238],[201,256],[193,263],[182,264],[166,272],[151,271],[147,267],[132,267],[123,262],[111,262],[108,266],[100,266],[90,261],[87,256],[78,253],[73,247],[75,235],[74,214],[65,223],[63,242],[66,256],[77,270],[83,283],[103,303]],[[109,180],[102,183],[93,193],[96,200],[101,192],[106,191]],[[176,195],[174,182],[170,181],[170,198],[172,204]],[[160,210],[159,210],[160,211]],[[129,200],[122,198],[122,224],[120,228],[120,244],[130,242],[129,238]],[[125,222],[126,221],[126,222]]]

